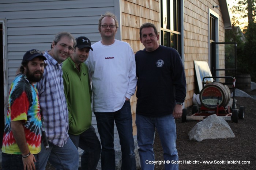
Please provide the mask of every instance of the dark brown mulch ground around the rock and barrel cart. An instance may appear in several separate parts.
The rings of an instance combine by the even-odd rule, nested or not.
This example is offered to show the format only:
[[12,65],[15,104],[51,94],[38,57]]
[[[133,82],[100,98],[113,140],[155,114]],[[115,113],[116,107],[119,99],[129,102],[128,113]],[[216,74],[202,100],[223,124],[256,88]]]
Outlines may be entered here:
[[[253,90],[250,95],[256,95]],[[228,122],[235,138],[206,139],[201,142],[190,141],[189,131],[198,123],[198,120],[188,120],[182,123],[176,120],[177,150],[179,155],[179,169],[255,169],[256,166],[256,100],[248,97],[236,97],[237,107],[245,107],[244,119],[238,123]],[[188,113],[192,108],[187,108]],[[155,161],[163,161],[163,151],[156,133],[154,143]],[[194,161],[189,163],[189,161]],[[205,163],[203,161],[212,161]],[[233,161],[233,162],[232,162]],[[240,162],[239,162],[240,161]],[[249,161],[249,162],[242,162]],[[186,163],[187,162],[187,163]],[[163,170],[164,165],[155,165],[155,170]]]

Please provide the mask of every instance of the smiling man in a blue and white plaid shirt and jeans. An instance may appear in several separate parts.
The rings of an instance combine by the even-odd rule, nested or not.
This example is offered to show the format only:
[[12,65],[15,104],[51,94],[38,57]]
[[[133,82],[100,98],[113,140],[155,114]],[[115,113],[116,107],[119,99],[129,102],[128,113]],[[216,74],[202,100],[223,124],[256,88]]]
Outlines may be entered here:
[[75,38],[69,32],[59,32],[54,36],[51,50],[44,53],[48,66],[37,89],[49,149],[42,147],[38,155],[40,170],[45,169],[48,159],[56,169],[78,169],[78,150],[68,136],[68,108],[61,69],[75,45]]

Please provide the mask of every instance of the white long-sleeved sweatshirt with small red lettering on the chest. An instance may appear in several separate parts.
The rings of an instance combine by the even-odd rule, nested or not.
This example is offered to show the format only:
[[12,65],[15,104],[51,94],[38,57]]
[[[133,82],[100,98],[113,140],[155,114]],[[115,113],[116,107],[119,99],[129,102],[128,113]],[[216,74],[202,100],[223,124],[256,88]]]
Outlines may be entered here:
[[137,77],[135,56],[127,42],[116,40],[112,45],[94,43],[86,65],[93,89],[93,111],[115,112],[125,97],[135,93]]

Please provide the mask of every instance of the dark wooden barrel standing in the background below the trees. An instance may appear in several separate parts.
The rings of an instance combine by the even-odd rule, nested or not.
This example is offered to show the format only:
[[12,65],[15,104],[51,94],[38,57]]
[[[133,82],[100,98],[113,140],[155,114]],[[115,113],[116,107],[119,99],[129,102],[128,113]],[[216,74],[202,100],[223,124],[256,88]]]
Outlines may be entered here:
[[237,89],[246,93],[251,92],[251,74],[238,74],[235,78]]

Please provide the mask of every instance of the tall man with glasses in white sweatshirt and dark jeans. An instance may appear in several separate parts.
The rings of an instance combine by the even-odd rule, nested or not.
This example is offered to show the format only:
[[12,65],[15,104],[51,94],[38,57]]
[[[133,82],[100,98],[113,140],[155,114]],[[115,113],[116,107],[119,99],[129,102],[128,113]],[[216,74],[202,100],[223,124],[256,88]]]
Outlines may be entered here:
[[86,64],[92,81],[93,112],[101,139],[101,166],[115,169],[114,121],[122,151],[121,169],[135,170],[130,98],[136,89],[135,56],[131,46],[115,39],[116,16],[106,12],[99,19],[102,40],[91,47]]

